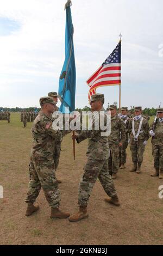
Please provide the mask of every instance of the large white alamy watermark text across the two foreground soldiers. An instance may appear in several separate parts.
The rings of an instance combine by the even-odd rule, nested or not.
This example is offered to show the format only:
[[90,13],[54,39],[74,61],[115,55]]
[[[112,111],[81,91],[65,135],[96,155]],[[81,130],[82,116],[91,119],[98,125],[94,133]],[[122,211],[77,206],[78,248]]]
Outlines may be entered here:
[[62,114],[60,111],[53,113],[53,129],[60,131],[100,131],[101,136],[109,136],[111,132],[111,115],[106,111],[73,111]]

